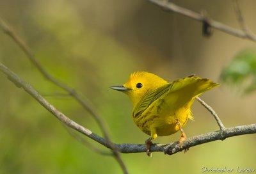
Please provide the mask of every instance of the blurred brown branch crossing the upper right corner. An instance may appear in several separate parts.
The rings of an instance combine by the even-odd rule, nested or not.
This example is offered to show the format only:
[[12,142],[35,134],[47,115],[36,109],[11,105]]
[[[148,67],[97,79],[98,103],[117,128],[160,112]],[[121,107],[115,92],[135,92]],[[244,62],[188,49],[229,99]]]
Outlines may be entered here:
[[[156,4],[157,6],[160,6],[161,8],[164,8],[165,10],[169,10],[171,12],[179,13],[181,15],[184,15],[186,17],[189,17],[191,19],[198,20],[200,22],[204,22],[205,17],[204,15],[193,12],[192,10],[189,10],[187,8],[183,8],[181,6],[177,6],[176,4],[168,1],[161,1],[161,0],[148,0],[151,3]],[[256,42],[256,35],[253,35],[250,33],[244,32],[241,29],[232,28],[230,26],[227,26],[226,24],[223,24],[221,22],[218,22],[216,20],[208,19],[207,22],[212,28],[218,29],[220,31],[223,31],[224,33],[228,33],[229,35],[237,36],[239,38],[246,38],[248,40],[252,40],[253,42]]]

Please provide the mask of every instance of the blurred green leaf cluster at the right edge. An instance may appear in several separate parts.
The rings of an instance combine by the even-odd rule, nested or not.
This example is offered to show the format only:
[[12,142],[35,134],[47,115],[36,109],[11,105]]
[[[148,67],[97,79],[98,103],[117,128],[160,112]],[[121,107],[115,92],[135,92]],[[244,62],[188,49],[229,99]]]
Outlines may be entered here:
[[243,93],[256,90],[256,51],[245,49],[239,52],[226,67],[223,68],[221,81],[238,86]]

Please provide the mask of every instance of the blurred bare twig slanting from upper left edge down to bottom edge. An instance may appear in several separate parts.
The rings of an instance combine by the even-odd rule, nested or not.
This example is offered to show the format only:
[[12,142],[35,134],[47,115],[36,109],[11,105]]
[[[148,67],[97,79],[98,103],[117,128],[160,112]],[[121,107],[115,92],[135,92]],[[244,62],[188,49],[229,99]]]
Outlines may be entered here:
[[93,107],[90,105],[90,102],[88,102],[88,100],[86,100],[84,97],[81,97],[81,95],[78,95],[76,90],[74,90],[73,88],[70,88],[70,86],[68,86],[67,84],[62,83],[58,79],[52,77],[52,75],[49,74],[44,69],[44,67],[42,67],[42,65],[39,63],[39,61],[35,58],[31,49],[29,49],[28,45],[24,42],[24,40],[22,40],[22,38],[20,38],[20,36],[17,35],[17,33],[15,33],[15,31],[13,31],[13,29],[10,26],[8,26],[8,24],[6,24],[6,22],[4,22],[4,20],[1,19],[1,17],[0,17],[0,27],[3,29],[4,33],[9,35],[14,40],[14,42],[17,43],[17,45],[19,45],[20,49],[22,49],[22,51],[24,51],[26,56],[28,56],[29,60],[35,65],[35,67],[45,77],[45,79],[51,81],[56,86],[59,86],[61,89],[67,91],[72,97],[74,97],[74,99],[77,100],[77,102],[79,102],[79,104],[81,104],[81,106],[83,106],[84,109],[86,109],[86,111],[88,111],[88,113],[90,113],[90,115],[93,116],[93,118],[99,125],[100,130],[102,131],[102,134],[104,135],[104,138],[106,138],[107,143],[109,143],[109,147],[113,150],[113,154],[114,154],[116,161],[118,162],[118,164],[120,164],[120,167],[122,168],[123,172],[128,173],[127,168],[125,167],[124,161],[122,161],[122,159],[118,153],[118,150],[115,148],[114,145],[111,144],[109,134],[108,134],[108,129],[106,128],[106,125],[104,124],[102,118],[100,118],[98,113],[95,111],[95,109],[93,109]]

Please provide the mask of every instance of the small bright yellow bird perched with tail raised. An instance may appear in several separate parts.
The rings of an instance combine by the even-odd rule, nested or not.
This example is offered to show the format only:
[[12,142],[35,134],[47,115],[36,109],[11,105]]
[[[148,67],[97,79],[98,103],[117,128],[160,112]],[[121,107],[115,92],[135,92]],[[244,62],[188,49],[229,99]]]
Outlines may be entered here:
[[141,131],[150,136],[145,145],[147,155],[151,156],[150,146],[157,136],[169,136],[180,131],[179,145],[182,146],[187,139],[183,127],[189,119],[193,120],[193,102],[218,85],[196,75],[168,82],[156,74],[138,71],[129,75],[127,83],[110,88],[122,91],[131,99],[132,119]]

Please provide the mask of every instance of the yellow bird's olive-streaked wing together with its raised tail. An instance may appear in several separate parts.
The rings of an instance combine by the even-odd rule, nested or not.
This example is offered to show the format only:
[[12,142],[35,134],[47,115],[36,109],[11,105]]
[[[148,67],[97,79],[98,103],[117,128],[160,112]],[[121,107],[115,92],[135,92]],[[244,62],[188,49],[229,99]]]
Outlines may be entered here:
[[132,115],[134,117],[140,116],[153,102],[156,104],[157,114],[172,115],[176,109],[217,85],[209,79],[189,75],[146,93],[134,108]]

